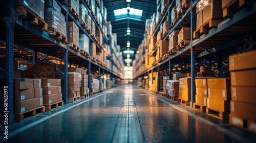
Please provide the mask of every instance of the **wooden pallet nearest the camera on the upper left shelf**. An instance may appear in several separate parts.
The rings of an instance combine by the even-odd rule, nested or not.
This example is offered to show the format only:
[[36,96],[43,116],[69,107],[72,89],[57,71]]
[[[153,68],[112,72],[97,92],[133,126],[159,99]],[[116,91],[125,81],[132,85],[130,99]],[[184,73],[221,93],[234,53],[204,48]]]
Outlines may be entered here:
[[29,8],[25,6],[18,6],[16,8],[17,15],[29,20],[32,25],[39,26],[39,28],[43,31],[47,31],[48,24],[44,19],[40,18],[35,12],[31,11]]

